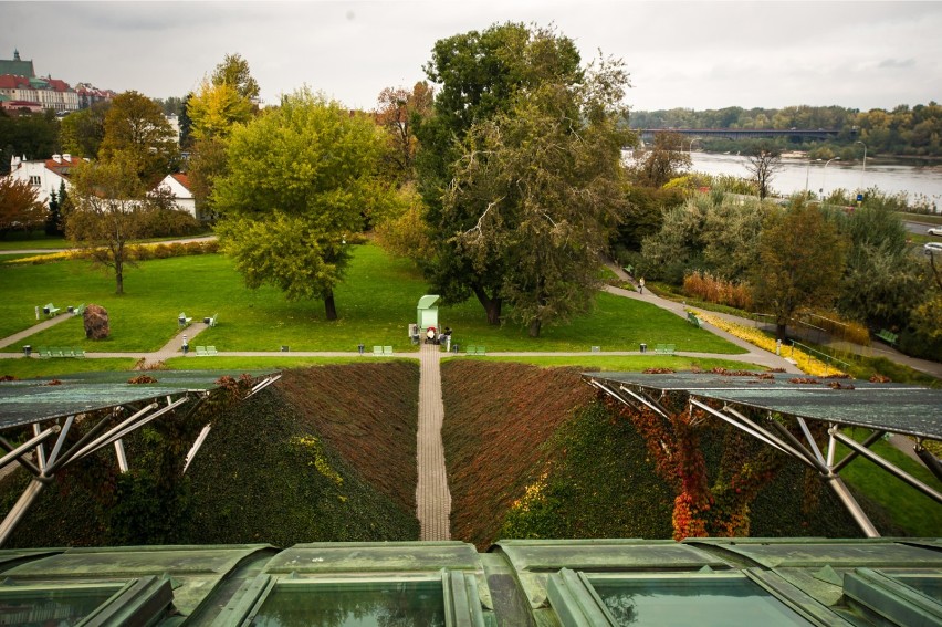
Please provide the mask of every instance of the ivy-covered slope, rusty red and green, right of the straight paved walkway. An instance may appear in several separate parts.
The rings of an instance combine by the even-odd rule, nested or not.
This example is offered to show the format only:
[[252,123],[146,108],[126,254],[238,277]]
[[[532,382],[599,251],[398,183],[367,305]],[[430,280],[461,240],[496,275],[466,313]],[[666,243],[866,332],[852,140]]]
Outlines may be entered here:
[[[454,360],[442,386],[453,539],[484,548],[500,537],[671,537],[674,494],[645,441],[575,369]],[[714,466],[728,429],[704,427]],[[860,534],[823,483],[806,487],[797,462],[756,499],[751,521],[755,536]]]

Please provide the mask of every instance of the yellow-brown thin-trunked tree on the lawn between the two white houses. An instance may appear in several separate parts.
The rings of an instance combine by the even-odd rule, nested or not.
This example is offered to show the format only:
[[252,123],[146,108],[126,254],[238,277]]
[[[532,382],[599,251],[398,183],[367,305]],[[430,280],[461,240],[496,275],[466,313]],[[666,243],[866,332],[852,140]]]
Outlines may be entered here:
[[116,294],[124,294],[125,269],[134,265],[128,244],[147,228],[147,188],[137,168],[137,155],[116,153],[72,170],[65,237],[93,265],[114,272]]

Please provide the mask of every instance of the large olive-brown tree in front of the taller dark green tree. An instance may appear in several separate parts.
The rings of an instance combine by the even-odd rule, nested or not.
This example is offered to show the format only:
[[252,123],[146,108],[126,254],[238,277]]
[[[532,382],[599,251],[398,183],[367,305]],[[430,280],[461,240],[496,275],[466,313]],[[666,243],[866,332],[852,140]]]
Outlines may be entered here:
[[619,64],[598,70],[578,86],[520,92],[511,111],[472,125],[446,195],[446,217],[478,215],[452,238],[459,253],[475,271],[500,275],[510,318],[531,337],[588,311],[625,207],[626,76]]

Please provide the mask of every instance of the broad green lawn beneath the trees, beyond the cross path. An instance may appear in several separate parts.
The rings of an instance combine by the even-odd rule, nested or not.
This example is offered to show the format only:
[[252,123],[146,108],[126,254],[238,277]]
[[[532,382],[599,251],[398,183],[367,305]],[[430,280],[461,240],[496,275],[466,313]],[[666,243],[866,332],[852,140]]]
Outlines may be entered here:
[[[81,346],[86,352],[156,351],[178,332],[177,315],[201,318],[219,314],[219,325],[191,344],[219,351],[355,351],[391,345],[396,352],[416,351],[408,326],[416,304],[427,292],[415,267],[389,259],[374,245],[356,247],[346,281],[335,292],[339,320],[326,322],[322,302],[287,302],[273,288],[248,290],[231,262],[207,254],[153,260],[129,269],[125,294],[114,294],[114,279],[81,261],[0,267],[0,336],[35,324],[34,307],[96,303],[108,311],[112,334],[102,342],[84,338],[75,317],[36,333],[23,344]],[[484,345],[489,351],[637,351],[638,344],[674,344],[678,351],[743,353],[715,335],[690,326],[659,307],[599,293],[589,315],[565,326],[548,327],[542,337],[527,337],[516,325],[486,324],[477,301],[439,310],[441,326],[454,330],[454,342]]]

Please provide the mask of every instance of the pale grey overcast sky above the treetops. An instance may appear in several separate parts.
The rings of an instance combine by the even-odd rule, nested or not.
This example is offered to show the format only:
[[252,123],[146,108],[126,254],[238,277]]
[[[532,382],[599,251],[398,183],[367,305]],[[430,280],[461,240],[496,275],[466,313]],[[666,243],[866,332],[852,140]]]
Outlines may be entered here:
[[437,0],[9,2],[0,59],[116,92],[184,96],[227,53],[266,103],[302,85],[354,108],[425,79],[439,39],[495,22],[555,23],[583,59],[631,75],[637,111],[940,100],[942,2]]

